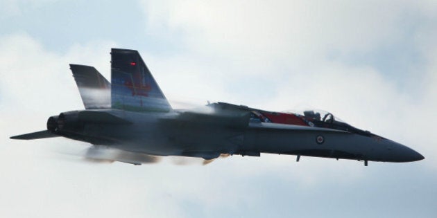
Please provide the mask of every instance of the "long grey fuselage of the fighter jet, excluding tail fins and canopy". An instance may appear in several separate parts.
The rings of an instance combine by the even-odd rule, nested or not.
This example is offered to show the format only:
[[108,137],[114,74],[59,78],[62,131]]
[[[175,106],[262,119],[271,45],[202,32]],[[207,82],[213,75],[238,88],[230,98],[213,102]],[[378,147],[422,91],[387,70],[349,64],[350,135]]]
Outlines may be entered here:
[[[418,161],[423,158],[409,147],[376,135],[257,122],[241,115],[206,119],[198,116],[184,118],[185,113],[178,111],[92,111],[103,111],[125,122],[96,122],[81,118],[81,111],[69,111],[49,118],[47,127],[53,134],[93,145],[108,145],[158,156],[212,159],[220,154],[260,156],[261,153],[271,153],[384,162]],[[226,118],[239,124],[222,122]]]

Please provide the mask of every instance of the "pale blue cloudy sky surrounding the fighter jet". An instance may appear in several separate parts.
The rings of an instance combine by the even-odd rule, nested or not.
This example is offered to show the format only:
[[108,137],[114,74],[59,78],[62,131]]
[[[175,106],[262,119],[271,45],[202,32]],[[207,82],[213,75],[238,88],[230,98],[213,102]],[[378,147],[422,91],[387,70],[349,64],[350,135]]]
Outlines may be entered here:
[[[0,217],[435,217],[436,1],[0,1]],[[9,136],[83,109],[69,63],[138,50],[173,105],[318,108],[416,163],[232,156],[91,164]],[[185,160],[186,161],[186,160]]]

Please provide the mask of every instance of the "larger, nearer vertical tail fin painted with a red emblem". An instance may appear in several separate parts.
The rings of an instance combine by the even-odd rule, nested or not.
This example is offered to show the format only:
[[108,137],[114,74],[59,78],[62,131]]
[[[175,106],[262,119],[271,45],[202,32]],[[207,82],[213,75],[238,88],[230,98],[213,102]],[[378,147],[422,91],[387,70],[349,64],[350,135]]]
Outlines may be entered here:
[[171,111],[164,93],[138,51],[111,50],[112,108],[126,111]]

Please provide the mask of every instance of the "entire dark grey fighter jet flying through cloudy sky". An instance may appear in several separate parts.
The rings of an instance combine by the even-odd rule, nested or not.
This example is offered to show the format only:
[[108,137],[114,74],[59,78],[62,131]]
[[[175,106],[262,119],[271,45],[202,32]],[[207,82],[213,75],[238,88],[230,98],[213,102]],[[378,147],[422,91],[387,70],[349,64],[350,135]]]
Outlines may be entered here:
[[12,136],[62,136],[132,154],[212,160],[221,154],[262,153],[382,162],[420,161],[413,149],[352,127],[326,111],[277,112],[225,102],[199,110],[175,110],[138,51],[112,48],[111,83],[92,66],[70,64],[85,110],[51,116],[46,130]]

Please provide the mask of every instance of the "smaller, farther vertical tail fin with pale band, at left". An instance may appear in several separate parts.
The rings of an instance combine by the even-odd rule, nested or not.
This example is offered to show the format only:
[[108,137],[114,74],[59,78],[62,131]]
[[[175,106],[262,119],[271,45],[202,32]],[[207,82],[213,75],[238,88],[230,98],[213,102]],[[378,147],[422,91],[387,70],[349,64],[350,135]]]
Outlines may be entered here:
[[111,84],[93,66],[70,64],[85,109],[111,107]]

